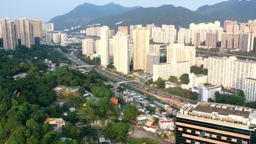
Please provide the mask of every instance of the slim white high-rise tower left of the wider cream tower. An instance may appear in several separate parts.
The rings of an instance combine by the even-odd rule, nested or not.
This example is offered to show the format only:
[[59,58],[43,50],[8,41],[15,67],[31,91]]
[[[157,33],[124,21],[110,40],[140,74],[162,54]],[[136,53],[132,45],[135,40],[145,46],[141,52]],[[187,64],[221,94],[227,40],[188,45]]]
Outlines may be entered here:
[[107,26],[101,27],[101,65],[107,67],[109,64],[109,28]]

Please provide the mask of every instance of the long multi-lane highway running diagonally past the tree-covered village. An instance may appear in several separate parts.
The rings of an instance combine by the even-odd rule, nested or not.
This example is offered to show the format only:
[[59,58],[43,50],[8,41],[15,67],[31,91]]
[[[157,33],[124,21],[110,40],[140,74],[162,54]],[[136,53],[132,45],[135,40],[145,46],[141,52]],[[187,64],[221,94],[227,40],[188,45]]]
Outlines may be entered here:
[[[78,61],[78,58],[76,56],[74,56],[74,53],[72,53],[72,56],[67,56],[66,53],[63,53],[60,49],[57,49],[58,51],[60,51],[63,55],[65,55],[66,57],[68,57],[73,63],[78,64],[78,65],[88,65],[85,62],[82,61]],[[129,79],[126,79],[125,77],[119,76],[117,74],[111,73],[109,71],[100,69],[100,68],[92,68],[92,67],[88,67],[89,70],[91,69],[95,69],[97,71],[97,73],[107,77],[108,79],[113,79],[116,80],[118,82],[123,82],[123,81],[130,81]],[[176,104],[178,107],[182,107],[185,104],[196,104],[197,101],[193,101],[191,99],[186,99],[186,98],[181,98],[178,97],[177,95],[172,95],[172,94],[167,94],[166,91],[157,91],[155,89],[152,88],[147,88],[144,87],[143,85],[139,85],[137,83],[131,82],[131,83],[127,83],[126,85],[129,85],[135,89],[137,89],[138,91],[142,91],[148,95],[153,95],[154,97],[165,101],[168,104]],[[173,108],[178,109],[178,107],[174,106]]]

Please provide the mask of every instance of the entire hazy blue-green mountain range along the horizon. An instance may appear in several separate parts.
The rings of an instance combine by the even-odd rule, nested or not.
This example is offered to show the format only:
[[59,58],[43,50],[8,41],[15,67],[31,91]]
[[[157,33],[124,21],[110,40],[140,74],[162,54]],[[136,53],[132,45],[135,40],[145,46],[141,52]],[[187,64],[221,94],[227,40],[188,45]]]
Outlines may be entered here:
[[196,11],[173,5],[161,5],[160,7],[123,7],[118,4],[94,5],[84,3],[67,14],[54,17],[49,22],[55,24],[56,29],[70,28],[72,26],[86,26],[92,23],[101,23],[110,28],[117,29],[116,22],[123,21],[121,26],[135,24],[163,23],[188,27],[191,22],[212,22],[237,20],[246,22],[256,19],[256,0],[231,0],[214,5],[203,5]]

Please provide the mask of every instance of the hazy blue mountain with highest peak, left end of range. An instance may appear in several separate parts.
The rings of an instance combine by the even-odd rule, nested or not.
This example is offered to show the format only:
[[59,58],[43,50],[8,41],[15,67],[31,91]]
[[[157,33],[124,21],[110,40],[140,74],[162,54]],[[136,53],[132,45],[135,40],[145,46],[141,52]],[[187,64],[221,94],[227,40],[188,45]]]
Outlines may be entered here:
[[56,30],[60,30],[79,25],[84,26],[97,17],[118,15],[136,8],[139,7],[123,7],[119,4],[114,4],[113,2],[106,5],[84,3],[78,5],[78,7],[67,14],[54,17],[49,22],[54,23]]

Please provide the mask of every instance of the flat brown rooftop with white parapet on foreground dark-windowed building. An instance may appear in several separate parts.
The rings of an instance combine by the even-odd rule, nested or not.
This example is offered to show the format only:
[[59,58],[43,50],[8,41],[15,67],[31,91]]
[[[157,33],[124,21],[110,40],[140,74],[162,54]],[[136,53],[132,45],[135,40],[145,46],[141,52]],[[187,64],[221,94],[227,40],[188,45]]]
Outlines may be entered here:
[[[238,125],[255,126],[256,125],[256,110],[248,107],[205,103],[200,102],[196,105],[185,105],[177,116],[188,115],[185,117],[197,117],[200,121],[223,124],[233,123]],[[208,120],[207,120],[208,119]]]

